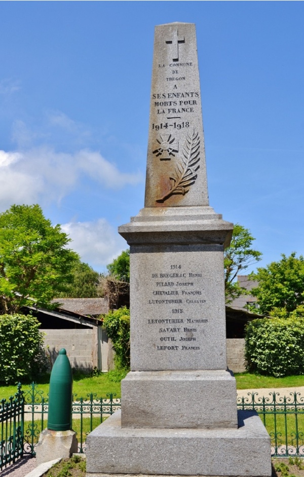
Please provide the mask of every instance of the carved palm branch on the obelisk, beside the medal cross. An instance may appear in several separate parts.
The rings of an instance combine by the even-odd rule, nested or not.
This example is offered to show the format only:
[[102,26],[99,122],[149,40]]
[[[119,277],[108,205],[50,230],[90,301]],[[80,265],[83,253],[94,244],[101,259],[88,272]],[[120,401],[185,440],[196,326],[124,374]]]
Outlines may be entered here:
[[157,202],[163,202],[173,194],[185,195],[188,188],[192,186],[198,176],[200,160],[200,138],[198,132],[193,130],[193,134],[187,134],[182,149],[182,155],[175,166],[175,175],[169,177],[169,190]]

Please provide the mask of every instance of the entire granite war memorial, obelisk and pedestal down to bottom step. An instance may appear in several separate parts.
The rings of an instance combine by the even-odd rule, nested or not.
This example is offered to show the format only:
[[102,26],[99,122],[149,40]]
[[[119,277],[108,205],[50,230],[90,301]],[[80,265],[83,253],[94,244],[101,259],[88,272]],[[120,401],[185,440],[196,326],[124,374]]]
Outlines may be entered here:
[[155,29],[144,208],[130,245],[131,371],[87,438],[87,476],[270,476],[270,437],[237,411],[226,365],[223,250],[209,206],[193,23]]

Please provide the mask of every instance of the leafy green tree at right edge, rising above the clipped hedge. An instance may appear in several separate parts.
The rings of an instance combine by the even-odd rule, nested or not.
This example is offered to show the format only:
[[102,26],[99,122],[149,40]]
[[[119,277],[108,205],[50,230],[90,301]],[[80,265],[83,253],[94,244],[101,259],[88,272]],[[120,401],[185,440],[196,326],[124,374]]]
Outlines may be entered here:
[[[272,262],[252,273],[258,286],[251,290],[262,314],[287,317],[297,307],[304,305],[304,258],[282,254],[282,260]],[[299,310],[300,311],[300,310]]]

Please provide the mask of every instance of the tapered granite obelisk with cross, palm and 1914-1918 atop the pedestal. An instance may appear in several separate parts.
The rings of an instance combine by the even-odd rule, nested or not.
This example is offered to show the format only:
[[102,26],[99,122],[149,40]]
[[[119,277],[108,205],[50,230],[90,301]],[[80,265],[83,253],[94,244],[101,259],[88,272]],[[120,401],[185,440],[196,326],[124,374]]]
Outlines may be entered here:
[[194,23],[155,27],[145,207],[208,205]]

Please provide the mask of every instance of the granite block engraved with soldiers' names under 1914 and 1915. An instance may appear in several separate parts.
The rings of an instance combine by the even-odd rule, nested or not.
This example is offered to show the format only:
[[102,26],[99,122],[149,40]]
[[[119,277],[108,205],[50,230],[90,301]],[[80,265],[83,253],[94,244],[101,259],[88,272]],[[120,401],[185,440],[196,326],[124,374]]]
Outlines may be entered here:
[[225,370],[222,246],[132,247],[130,267],[131,370]]

